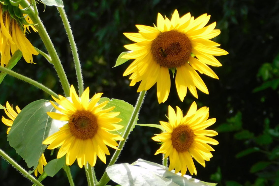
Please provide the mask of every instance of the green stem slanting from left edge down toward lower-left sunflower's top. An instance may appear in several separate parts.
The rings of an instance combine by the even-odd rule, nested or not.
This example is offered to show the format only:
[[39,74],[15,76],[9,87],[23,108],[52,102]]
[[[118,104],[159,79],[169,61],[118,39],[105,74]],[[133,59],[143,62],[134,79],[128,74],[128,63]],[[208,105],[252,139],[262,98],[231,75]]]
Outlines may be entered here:
[[32,85],[38,87],[39,89],[45,91],[45,92],[48,93],[49,95],[52,95],[52,96],[54,96],[54,97],[56,97],[56,98],[59,98],[58,95],[57,95],[54,91],[50,90],[50,89],[47,88],[46,86],[40,84],[39,82],[37,82],[37,81],[35,81],[35,80],[33,80],[33,79],[27,78],[26,76],[23,76],[23,75],[21,75],[21,74],[18,74],[18,73],[16,73],[16,72],[14,72],[14,71],[12,71],[12,70],[9,70],[9,69],[7,69],[7,68],[5,68],[5,67],[2,67],[2,66],[0,66],[0,71],[3,71],[4,73],[7,73],[7,74],[9,74],[9,75],[11,75],[11,76],[14,76],[14,77],[16,77],[16,78],[18,78],[18,79],[21,79],[22,81],[26,81],[27,83],[30,83],[30,84],[32,84]]

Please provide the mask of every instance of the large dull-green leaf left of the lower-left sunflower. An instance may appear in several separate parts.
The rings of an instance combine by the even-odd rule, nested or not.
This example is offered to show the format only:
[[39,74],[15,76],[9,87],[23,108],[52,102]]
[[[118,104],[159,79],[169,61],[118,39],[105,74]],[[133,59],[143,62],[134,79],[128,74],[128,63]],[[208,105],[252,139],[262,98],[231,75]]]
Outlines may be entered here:
[[53,110],[54,107],[48,100],[34,101],[21,110],[11,126],[8,141],[29,168],[37,167],[46,148],[46,145],[42,144],[44,139],[63,125],[47,115],[47,112]]

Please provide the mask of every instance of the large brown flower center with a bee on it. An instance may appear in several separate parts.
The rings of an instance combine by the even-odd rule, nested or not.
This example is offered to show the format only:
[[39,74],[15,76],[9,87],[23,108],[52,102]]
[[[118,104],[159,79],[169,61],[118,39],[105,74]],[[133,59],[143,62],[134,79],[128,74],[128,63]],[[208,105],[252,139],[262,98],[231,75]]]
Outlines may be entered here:
[[151,52],[160,66],[167,68],[179,67],[188,62],[192,45],[184,34],[171,30],[162,32],[152,41]]

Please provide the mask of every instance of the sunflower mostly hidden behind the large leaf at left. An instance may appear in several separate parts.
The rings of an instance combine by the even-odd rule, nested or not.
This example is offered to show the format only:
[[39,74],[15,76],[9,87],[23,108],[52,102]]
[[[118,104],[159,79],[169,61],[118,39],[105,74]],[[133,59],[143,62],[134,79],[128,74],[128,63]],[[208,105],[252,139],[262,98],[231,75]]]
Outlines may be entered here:
[[[6,115],[10,118],[10,119],[6,119],[4,118],[4,116],[2,116],[2,122],[9,126],[9,128],[7,129],[7,134],[9,134],[9,131],[11,130],[11,126],[13,125],[14,120],[16,119],[16,116],[20,113],[20,108],[16,105],[16,111],[13,109],[13,105],[10,105],[9,102],[6,103],[6,108],[4,109]],[[40,174],[42,174],[44,172],[44,168],[43,166],[47,165],[47,161],[45,160],[45,156],[44,153],[42,154],[42,156],[39,159],[39,163],[37,168],[34,171],[35,176],[38,176],[38,171]]]

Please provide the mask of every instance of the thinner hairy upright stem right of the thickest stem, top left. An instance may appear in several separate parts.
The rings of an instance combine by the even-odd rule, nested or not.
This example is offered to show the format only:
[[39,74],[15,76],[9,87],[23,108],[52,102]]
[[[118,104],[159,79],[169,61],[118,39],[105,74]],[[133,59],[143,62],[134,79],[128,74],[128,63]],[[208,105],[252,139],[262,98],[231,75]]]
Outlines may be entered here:
[[83,93],[83,80],[82,80],[82,74],[81,74],[81,67],[80,67],[80,59],[78,57],[78,49],[76,48],[76,43],[74,42],[74,36],[73,36],[73,32],[71,30],[71,26],[69,24],[69,21],[67,19],[67,15],[65,13],[64,8],[62,7],[57,7],[58,11],[60,13],[60,16],[62,18],[62,21],[64,23],[65,26],[65,30],[66,33],[68,35],[68,39],[69,39],[69,43],[72,49],[72,53],[73,53],[73,58],[74,58],[74,65],[76,67],[76,77],[78,79],[78,91],[81,94]]

